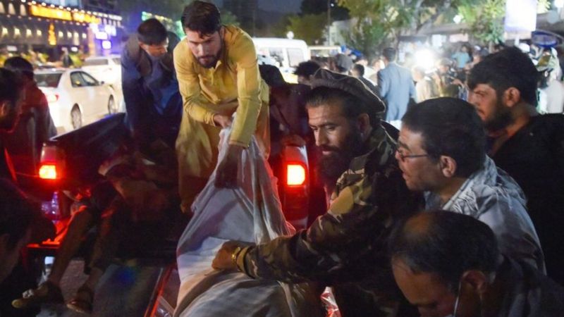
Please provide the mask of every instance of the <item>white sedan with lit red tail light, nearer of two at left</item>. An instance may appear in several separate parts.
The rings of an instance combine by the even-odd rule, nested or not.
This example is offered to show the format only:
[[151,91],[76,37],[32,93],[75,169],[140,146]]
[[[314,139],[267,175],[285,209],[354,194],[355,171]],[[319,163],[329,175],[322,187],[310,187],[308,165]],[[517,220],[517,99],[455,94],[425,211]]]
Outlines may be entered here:
[[57,132],[68,132],[118,112],[114,89],[81,69],[37,70]]

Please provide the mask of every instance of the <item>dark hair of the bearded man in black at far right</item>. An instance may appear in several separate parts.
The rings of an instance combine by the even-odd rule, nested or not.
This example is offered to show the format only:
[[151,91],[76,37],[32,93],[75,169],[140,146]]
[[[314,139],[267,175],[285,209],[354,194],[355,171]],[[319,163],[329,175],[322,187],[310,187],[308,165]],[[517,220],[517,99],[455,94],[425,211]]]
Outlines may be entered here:
[[498,99],[510,87],[519,90],[521,98],[532,106],[537,106],[537,80],[539,73],[527,54],[510,47],[490,54],[477,63],[468,75],[468,87],[474,89],[486,84],[496,90]]

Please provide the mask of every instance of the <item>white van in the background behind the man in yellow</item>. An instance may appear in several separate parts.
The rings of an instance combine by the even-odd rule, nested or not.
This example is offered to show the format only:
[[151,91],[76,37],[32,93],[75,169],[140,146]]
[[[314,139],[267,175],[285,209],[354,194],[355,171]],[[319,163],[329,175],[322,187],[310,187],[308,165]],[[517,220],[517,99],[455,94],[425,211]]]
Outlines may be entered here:
[[301,39],[278,39],[274,37],[254,37],[259,63],[268,63],[280,68],[286,82],[298,82],[293,74],[295,68],[303,61],[309,61],[311,55],[307,44]]

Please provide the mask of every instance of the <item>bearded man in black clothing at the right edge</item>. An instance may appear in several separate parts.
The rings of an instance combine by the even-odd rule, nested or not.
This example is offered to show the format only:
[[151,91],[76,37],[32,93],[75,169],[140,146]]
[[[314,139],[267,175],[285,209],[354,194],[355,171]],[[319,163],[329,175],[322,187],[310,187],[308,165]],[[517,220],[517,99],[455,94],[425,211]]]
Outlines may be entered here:
[[564,116],[540,116],[537,69],[517,48],[486,56],[470,71],[468,101],[489,135],[489,155],[527,197],[549,277],[564,285]]

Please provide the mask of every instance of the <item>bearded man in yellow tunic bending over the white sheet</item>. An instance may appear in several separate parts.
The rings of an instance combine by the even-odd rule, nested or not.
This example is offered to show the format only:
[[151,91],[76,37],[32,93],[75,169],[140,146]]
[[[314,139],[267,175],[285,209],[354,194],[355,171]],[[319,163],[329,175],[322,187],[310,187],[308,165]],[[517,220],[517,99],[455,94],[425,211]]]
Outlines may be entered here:
[[180,20],[186,38],[174,50],[174,64],[185,113],[176,151],[181,205],[189,212],[216,166],[221,128],[233,124],[216,173],[219,187],[237,185],[240,154],[253,133],[268,156],[269,89],[261,80],[251,37],[238,27],[221,25],[214,4],[194,1]]

